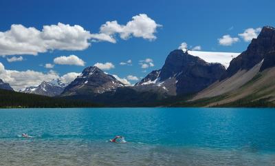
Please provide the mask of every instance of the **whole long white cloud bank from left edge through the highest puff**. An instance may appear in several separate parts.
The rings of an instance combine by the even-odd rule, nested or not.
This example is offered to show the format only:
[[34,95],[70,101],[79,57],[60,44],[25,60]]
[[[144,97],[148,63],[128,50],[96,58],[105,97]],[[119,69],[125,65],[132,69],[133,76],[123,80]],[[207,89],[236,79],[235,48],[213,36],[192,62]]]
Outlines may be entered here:
[[155,23],[146,14],[138,14],[126,25],[117,21],[107,21],[100,27],[100,32],[91,33],[80,25],[57,23],[43,25],[42,30],[12,24],[10,30],[0,32],[0,56],[15,54],[37,55],[49,50],[85,50],[92,41],[116,43],[115,34],[120,38],[142,37],[154,40],[157,28],[162,25]]

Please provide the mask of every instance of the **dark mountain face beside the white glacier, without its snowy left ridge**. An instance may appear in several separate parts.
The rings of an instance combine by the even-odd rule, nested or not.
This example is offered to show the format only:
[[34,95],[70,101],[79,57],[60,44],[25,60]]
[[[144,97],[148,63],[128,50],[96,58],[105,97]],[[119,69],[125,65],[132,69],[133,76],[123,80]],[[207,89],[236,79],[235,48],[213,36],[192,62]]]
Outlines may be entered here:
[[189,94],[203,90],[224,72],[225,68],[220,63],[207,63],[197,56],[175,50],[168,55],[159,81],[175,77],[177,94]]

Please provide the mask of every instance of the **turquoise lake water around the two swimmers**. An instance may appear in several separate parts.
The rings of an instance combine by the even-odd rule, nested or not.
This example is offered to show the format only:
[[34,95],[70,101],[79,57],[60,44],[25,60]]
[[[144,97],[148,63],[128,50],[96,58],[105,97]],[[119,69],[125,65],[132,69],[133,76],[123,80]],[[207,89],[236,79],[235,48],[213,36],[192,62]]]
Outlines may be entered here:
[[0,165],[275,165],[275,110],[0,110]]

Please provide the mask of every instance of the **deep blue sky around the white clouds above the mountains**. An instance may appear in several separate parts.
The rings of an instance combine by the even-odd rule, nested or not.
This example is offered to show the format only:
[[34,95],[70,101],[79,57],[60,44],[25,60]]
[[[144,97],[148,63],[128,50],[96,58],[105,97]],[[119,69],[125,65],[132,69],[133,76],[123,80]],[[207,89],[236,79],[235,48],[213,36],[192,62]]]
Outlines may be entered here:
[[[248,28],[253,28],[255,33],[259,34],[259,30],[257,31],[256,28],[261,28],[263,25],[275,25],[274,3],[274,1],[148,0],[0,1],[0,32],[7,32],[12,24],[21,24],[25,28],[33,27],[41,31],[43,25],[63,23],[70,26],[80,25],[85,31],[98,34],[100,26],[107,21],[117,21],[119,25],[126,25],[129,21],[133,21],[132,17],[139,16],[139,14],[146,14],[148,19],[158,24],[155,31],[151,33],[155,39],[144,34],[142,34],[143,37],[138,37],[138,34],[133,33],[130,33],[126,39],[122,39],[120,33],[115,33],[112,37],[116,43],[93,42],[94,39],[89,39],[87,41],[90,43],[89,47],[81,48],[81,50],[50,48],[38,52],[36,56],[2,53],[0,62],[5,70],[19,72],[33,70],[43,74],[51,71],[58,76],[63,76],[68,72],[82,72],[85,67],[95,63],[110,62],[114,68],[105,70],[109,74],[116,74],[125,79],[132,75],[140,79],[148,72],[162,68],[168,53],[177,49],[184,42],[188,44],[188,49],[200,46],[200,51],[242,52],[250,41],[249,39],[245,41],[245,37],[239,34],[243,34]],[[225,39],[225,43],[221,44],[218,39],[222,39],[224,35],[230,35],[230,39],[229,41]],[[1,52],[5,52],[4,46],[0,41]],[[82,59],[85,65],[54,64],[56,57],[72,54],[76,55],[78,59]],[[8,62],[7,59],[13,56],[16,58],[22,56],[23,61],[19,59],[19,61]],[[129,59],[131,59],[131,65],[120,65],[121,62],[126,62]],[[148,63],[148,68],[142,69],[141,65],[145,62],[140,61],[144,59],[152,59],[153,65],[150,66]],[[54,67],[45,68],[46,63],[50,63]],[[14,79],[10,75],[2,76],[2,79],[13,87],[36,83],[29,81],[25,85],[23,83],[19,85],[14,83]],[[131,80],[128,79],[128,81]],[[131,81],[131,83],[135,82]]]

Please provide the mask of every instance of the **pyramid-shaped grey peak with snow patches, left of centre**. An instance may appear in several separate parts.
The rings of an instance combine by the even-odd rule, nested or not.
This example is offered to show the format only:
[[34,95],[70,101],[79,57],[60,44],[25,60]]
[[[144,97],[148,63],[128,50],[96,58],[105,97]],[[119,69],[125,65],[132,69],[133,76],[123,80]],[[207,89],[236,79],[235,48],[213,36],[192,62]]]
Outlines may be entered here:
[[96,66],[91,66],[85,68],[82,74],[65,88],[62,95],[102,94],[115,91],[117,87],[124,87],[124,84]]

